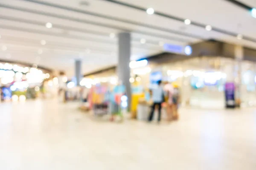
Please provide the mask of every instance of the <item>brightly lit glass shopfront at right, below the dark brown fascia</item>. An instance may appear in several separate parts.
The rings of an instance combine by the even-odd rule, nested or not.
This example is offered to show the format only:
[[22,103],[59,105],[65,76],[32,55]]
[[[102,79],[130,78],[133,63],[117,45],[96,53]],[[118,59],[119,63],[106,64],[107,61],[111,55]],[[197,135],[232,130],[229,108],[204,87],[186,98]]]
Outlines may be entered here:
[[147,66],[150,73],[144,68],[140,68],[141,74],[136,70],[131,72],[132,76],[137,73],[141,77],[144,88],[150,88],[150,74],[160,71],[163,81],[179,85],[184,107],[223,109],[226,82],[236,84],[236,98],[241,101],[241,107],[256,104],[255,65],[254,62],[242,61],[241,82],[237,79],[236,61],[224,57],[195,57],[166,64],[151,63]]

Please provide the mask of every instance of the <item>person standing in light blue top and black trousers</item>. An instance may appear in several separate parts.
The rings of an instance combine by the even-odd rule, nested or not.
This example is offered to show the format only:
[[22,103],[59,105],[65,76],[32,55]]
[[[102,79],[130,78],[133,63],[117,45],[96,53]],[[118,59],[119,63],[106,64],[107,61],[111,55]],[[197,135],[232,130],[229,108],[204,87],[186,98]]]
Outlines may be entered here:
[[159,80],[157,82],[157,87],[152,89],[152,100],[153,100],[153,105],[151,108],[151,112],[148,117],[148,122],[151,122],[154,116],[154,110],[155,107],[158,106],[158,122],[161,120],[161,109],[162,109],[162,103],[164,102],[164,91],[163,88],[161,87],[162,81]]

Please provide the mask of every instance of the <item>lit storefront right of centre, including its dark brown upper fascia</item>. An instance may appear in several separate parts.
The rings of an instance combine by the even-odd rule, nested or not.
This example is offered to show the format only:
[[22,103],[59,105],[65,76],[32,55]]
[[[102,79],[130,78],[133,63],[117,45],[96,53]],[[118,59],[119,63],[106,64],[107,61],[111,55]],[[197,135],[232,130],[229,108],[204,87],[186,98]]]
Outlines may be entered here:
[[[158,79],[180,87],[182,106],[192,108],[226,107],[225,86],[234,85],[234,105],[256,105],[256,51],[224,42],[206,41],[191,45],[191,55],[162,53],[132,63],[130,82],[143,93]],[[115,68],[101,71],[93,83],[116,84]]]

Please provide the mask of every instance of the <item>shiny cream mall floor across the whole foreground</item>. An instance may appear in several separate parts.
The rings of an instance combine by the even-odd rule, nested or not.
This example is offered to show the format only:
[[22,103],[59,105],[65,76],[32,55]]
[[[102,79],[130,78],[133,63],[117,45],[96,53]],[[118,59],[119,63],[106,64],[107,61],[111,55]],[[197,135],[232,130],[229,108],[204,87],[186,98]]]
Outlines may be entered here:
[[0,104],[0,170],[256,170],[256,109],[95,121],[76,103]]

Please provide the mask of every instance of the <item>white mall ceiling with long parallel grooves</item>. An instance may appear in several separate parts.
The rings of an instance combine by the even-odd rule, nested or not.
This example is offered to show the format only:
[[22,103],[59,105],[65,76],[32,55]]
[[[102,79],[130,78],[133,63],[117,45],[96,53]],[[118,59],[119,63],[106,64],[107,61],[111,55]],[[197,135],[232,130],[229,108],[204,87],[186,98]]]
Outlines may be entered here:
[[[34,1],[34,2],[32,2]],[[28,62],[73,74],[75,59],[83,60],[83,73],[116,65],[116,37],[132,33],[132,56],[138,59],[162,52],[159,42],[186,45],[207,39],[256,48],[256,42],[206,31],[194,25],[105,0],[0,0],[0,59]],[[255,0],[241,0],[255,6]],[[203,25],[211,25],[256,39],[256,18],[225,0],[119,0]],[[46,3],[46,4],[42,4]],[[57,6],[56,6],[57,5]],[[91,12],[91,14],[88,14]],[[96,14],[99,14],[96,16]],[[46,28],[50,22],[52,28]],[[140,39],[145,38],[146,44]],[[46,45],[40,41],[46,40]],[[43,51],[38,54],[38,50]]]

